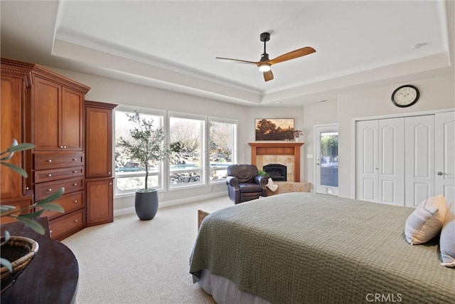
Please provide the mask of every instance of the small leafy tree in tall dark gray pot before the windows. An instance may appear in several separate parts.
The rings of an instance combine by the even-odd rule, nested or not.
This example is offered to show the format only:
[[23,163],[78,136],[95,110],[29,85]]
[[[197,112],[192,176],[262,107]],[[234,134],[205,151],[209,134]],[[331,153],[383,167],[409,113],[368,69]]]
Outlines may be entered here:
[[138,167],[145,169],[145,187],[136,190],[134,209],[139,219],[147,221],[155,217],[159,203],[158,191],[148,187],[149,167],[166,158],[169,150],[164,146],[163,127],[155,127],[153,119],[141,117],[137,110],[134,114],[127,113],[127,116],[136,127],[130,130],[131,138],[120,137],[118,145],[137,162]]

